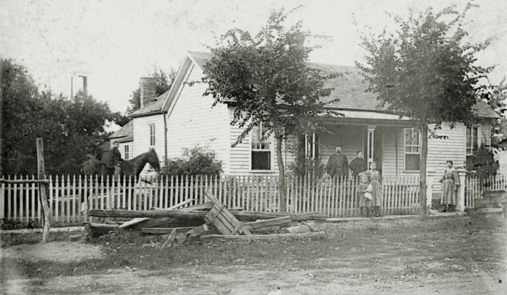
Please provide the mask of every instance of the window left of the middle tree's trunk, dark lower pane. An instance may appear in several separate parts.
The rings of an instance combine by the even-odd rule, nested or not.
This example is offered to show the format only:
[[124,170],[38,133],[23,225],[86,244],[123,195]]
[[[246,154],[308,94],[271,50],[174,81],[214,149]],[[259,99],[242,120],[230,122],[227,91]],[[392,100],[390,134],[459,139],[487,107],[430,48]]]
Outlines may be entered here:
[[267,129],[259,123],[251,131],[251,170],[271,170],[271,148]]

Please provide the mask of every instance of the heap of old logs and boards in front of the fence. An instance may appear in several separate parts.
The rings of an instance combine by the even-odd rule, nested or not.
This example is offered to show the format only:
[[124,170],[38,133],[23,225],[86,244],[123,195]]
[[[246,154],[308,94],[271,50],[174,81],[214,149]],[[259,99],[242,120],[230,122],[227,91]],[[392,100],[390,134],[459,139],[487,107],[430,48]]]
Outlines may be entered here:
[[118,230],[138,231],[166,241],[182,240],[270,240],[321,238],[326,235],[316,227],[327,218],[321,213],[264,213],[227,208],[210,191],[206,202],[189,205],[193,199],[169,208],[148,211],[91,209],[88,216],[102,218],[102,223],[85,226],[86,237],[97,237]]

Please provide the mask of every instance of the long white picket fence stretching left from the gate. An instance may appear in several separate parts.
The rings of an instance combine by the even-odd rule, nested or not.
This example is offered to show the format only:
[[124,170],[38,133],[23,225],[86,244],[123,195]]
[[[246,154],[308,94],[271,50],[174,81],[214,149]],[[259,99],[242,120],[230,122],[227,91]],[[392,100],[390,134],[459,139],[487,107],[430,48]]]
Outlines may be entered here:
[[[8,177],[7,179],[11,179]],[[15,176],[12,179],[34,179]],[[286,208],[291,213],[321,212],[328,217],[358,216],[356,179],[287,177]],[[204,202],[211,189],[221,202],[232,207],[260,212],[279,212],[278,176],[167,176],[148,181],[97,176],[50,176],[49,206],[57,225],[88,221],[88,209],[124,208],[149,210],[167,208],[193,199],[187,206]],[[0,218],[23,223],[42,221],[39,186],[35,183],[2,183]],[[417,177],[389,177],[382,184],[382,213],[417,212]]]

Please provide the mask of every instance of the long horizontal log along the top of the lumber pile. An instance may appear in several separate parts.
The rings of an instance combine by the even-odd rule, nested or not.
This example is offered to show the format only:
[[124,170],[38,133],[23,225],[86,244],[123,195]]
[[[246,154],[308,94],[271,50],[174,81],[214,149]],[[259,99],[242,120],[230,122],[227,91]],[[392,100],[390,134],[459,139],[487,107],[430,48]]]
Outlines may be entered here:
[[[287,213],[279,213],[279,212],[253,212],[253,211],[241,211],[241,212],[231,212],[239,221],[256,221],[258,219],[273,219],[278,217],[285,217]],[[149,217],[149,218],[161,218],[161,217],[172,217],[172,218],[180,218],[180,219],[201,219],[204,221],[204,216],[206,216],[207,212],[204,211],[190,211],[183,212],[181,210],[149,210],[149,211],[141,211],[141,210],[121,210],[121,209],[90,209],[88,210],[88,216],[92,217],[129,217],[129,218],[137,218],[137,217]],[[315,221],[325,221],[327,216],[323,213],[294,213],[289,214],[291,216],[292,221],[300,221],[300,220],[315,220]],[[203,222],[201,222],[202,224]]]

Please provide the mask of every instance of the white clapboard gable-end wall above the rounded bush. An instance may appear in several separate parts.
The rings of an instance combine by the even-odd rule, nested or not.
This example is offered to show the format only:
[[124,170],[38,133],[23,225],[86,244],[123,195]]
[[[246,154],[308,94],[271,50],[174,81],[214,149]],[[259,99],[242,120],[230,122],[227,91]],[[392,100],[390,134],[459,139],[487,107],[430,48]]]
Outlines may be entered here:
[[[187,82],[200,80],[203,73],[190,67]],[[185,82],[185,81],[184,81]],[[214,151],[223,161],[224,173],[229,173],[227,106],[218,104],[211,108],[212,97],[203,97],[207,85],[196,83],[192,87],[183,84],[176,93],[174,108],[167,114],[167,156],[181,157],[184,148],[195,146]]]

